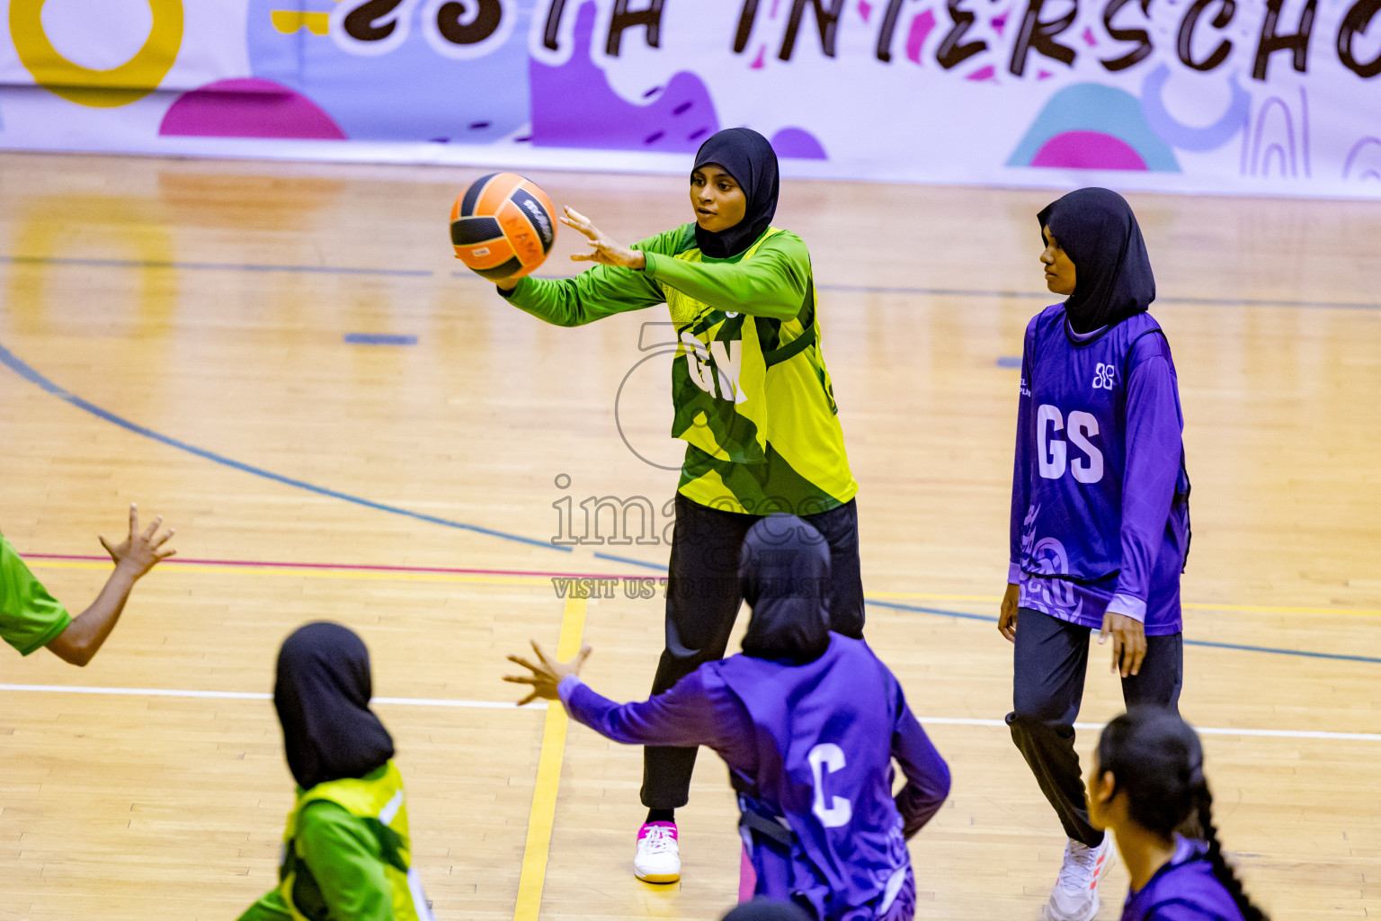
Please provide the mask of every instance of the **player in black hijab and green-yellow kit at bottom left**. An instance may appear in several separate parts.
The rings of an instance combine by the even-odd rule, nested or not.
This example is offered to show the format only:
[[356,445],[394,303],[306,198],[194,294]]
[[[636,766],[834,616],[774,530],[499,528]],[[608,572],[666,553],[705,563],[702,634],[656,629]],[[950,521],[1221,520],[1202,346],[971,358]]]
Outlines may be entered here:
[[240,921],[432,921],[371,684],[365,642],[340,624],[307,624],[283,641],[273,707],[297,802],[279,884]]

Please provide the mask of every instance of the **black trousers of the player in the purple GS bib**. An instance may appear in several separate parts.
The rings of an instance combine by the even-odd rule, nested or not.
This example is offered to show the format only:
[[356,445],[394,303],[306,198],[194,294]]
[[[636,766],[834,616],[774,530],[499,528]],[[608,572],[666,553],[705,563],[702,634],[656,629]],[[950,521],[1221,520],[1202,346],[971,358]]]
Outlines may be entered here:
[[[1084,699],[1088,641],[1088,627],[1030,608],[1018,610],[1012,712],[1007,714],[1007,725],[1040,791],[1065,826],[1065,834],[1095,846],[1103,833],[1088,824],[1084,782],[1074,753],[1074,719]],[[1155,704],[1179,711],[1184,649],[1181,634],[1146,637],[1141,672],[1121,679],[1128,708]]]

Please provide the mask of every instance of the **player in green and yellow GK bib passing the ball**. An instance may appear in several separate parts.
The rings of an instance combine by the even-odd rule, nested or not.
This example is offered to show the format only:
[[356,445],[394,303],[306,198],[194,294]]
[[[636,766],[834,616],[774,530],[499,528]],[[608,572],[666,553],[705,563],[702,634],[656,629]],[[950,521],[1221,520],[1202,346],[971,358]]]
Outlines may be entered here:
[[[522,278],[499,293],[558,326],[580,326],[666,304],[678,348],[671,370],[675,420],[686,442],[675,497],[667,583],[667,645],[652,692],[724,656],[739,612],[739,547],[772,512],[809,522],[830,547],[830,628],[863,635],[858,483],[820,351],[811,254],[772,226],[778,159],[757,131],[710,137],[690,173],[695,222],[623,246],[584,215],[562,222],[590,239],[597,265],[576,278]],[[675,809],[689,798],[696,748],[644,750],[634,871],[681,878]]]

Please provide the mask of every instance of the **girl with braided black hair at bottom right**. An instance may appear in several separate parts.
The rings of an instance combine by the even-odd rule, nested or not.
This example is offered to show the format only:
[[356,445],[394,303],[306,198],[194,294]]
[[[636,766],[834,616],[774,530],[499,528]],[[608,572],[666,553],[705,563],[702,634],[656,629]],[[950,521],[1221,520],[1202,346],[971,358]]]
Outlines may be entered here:
[[1178,714],[1139,707],[1108,724],[1088,820],[1112,830],[1131,875],[1121,921],[1269,921],[1222,856],[1203,748]]

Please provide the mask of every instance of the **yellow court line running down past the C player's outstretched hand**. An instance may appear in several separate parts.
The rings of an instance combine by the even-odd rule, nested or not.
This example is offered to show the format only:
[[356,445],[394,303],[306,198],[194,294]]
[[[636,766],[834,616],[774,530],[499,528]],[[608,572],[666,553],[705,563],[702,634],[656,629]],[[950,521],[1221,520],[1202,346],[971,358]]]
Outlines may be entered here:
[[[568,660],[580,652],[586,605],[584,598],[566,599],[566,610],[561,616],[557,659]],[[566,708],[559,703],[547,707],[547,722],[541,730],[541,757],[537,761],[537,784],[532,791],[532,811],[528,813],[528,844],[522,852],[522,875],[518,878],[514,921],[537,921],[537,913],[541,911],[541,889],[547,881],[547,855],[551,851],[551,827],[557,817],[557,787],[561,786],[568,722]]]

